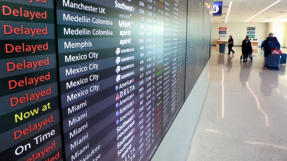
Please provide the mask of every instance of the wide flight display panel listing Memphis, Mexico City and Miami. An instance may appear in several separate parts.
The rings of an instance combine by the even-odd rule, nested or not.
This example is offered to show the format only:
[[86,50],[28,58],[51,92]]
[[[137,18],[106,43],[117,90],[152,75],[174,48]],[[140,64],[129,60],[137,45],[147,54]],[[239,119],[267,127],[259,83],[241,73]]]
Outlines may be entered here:
[[162,139],[163,5],[56,1],[66,160],[151,159]]

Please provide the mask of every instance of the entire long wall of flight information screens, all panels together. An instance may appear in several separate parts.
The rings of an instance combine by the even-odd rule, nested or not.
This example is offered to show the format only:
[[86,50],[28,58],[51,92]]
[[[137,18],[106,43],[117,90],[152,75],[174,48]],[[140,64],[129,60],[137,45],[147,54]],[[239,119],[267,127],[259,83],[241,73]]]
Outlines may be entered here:
[[0,5],[6,160],[150,160],[209,59],[200,0]]

